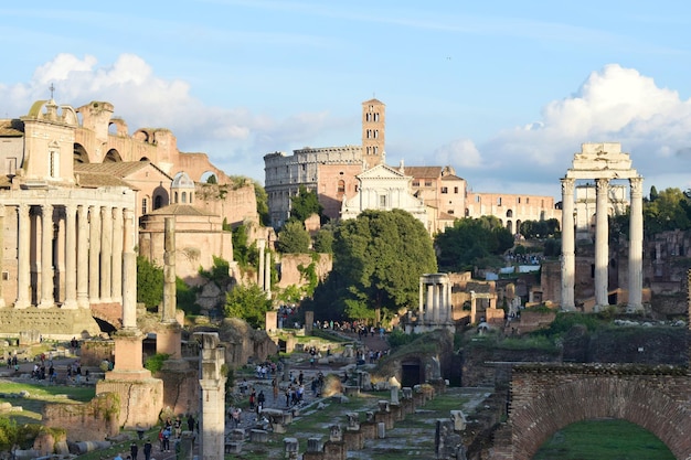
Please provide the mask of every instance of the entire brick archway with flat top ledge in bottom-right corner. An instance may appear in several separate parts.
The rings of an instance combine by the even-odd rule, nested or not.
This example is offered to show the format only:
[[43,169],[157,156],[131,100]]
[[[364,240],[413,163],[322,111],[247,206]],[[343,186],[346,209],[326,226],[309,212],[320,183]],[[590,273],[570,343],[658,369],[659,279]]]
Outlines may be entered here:
[[584,367],[514,368],[510,458],[530,460],[557,430],[596,418],[631,421],[657,436],[677,459],[691,454],[689,376],[679,368],[637,374],[629,367]]

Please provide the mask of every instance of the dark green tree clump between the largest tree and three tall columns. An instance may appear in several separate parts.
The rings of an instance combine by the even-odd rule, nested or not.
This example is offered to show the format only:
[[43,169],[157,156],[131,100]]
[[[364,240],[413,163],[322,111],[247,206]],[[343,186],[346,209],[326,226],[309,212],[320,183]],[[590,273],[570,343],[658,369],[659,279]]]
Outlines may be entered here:
[[495,216],[460,218],[437,235],[439,267],[449,271],[464,271],[475,265],[488,265],[488,257],[500,256],[513,247],[511,232]]

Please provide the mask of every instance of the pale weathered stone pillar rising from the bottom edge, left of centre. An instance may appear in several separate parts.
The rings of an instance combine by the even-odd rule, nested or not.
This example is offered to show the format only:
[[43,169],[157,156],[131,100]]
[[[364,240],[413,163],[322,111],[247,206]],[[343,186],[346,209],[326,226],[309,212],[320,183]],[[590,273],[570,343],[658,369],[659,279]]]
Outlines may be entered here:
[[194,334],[201,342],[199,384],[201,387],[200,459],[223,460],[225,447],[225,381],[222,368],[225,350],[216,332]]

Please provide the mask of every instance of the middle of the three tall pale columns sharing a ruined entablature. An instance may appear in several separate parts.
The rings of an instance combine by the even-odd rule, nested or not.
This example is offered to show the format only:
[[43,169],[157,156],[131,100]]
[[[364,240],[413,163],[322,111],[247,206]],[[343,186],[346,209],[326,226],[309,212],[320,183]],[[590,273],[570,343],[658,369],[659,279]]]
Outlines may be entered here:
[[609,179],[595,179],[595,309],[609,304],[607,299],[607,265],[609,260]]

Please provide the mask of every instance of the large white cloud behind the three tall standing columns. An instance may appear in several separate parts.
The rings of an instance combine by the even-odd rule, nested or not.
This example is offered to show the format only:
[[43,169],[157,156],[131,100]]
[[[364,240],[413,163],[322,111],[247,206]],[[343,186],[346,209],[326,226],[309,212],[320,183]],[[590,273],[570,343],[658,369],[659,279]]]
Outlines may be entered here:
[[679,171],[691,169],[691,103],[636,69],[610,64],[593,72],[574,95],[546,104],[541,120],[479,145],[489,168],[474,174],[479,181],[552,183],[557,193],[581,145],[604,141],[620,142],[632,167],[659,181],[658,189],[683,188]]

